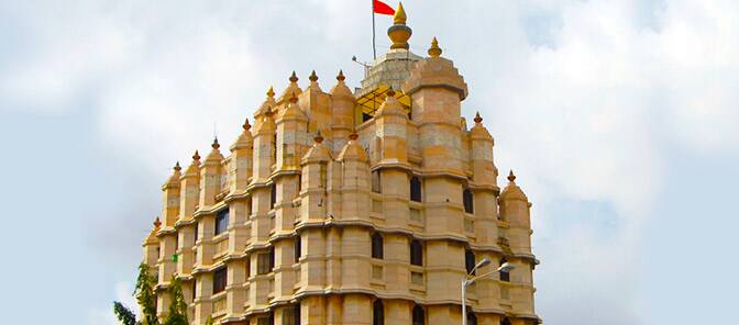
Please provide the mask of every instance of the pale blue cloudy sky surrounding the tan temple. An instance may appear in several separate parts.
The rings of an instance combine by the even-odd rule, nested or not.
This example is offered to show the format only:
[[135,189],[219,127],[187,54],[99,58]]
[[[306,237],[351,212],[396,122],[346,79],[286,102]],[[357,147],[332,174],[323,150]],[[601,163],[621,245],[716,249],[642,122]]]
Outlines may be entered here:
[[[293,70],[359,86],[370,3],[0,0],[3,321],[115,324],[175,161],[235,141]],[[439,38],[470,88],[463,114],[481,112],[533,202],[544,324],[727,323],[739,2],[404,7],[411,51]],[[391,19],[376,24],[383,53]]]

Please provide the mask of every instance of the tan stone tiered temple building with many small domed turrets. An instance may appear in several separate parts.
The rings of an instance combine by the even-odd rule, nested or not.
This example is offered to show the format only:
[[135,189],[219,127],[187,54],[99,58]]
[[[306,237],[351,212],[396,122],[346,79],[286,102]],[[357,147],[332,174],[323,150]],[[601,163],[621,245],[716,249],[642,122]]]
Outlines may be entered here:
[[462,280],[489,272],[467,287],[467,324],[540,323],[531,203],[512,171],[500,190],[483,119],[461,116],[464,79],[435,38],[410,53],[406,20],[400,5],[355,91],[341,71],[328,92],[294,72],[228,150],[175,166],[143,244],[161,317],[174,276],[191,324],[461,324]]

